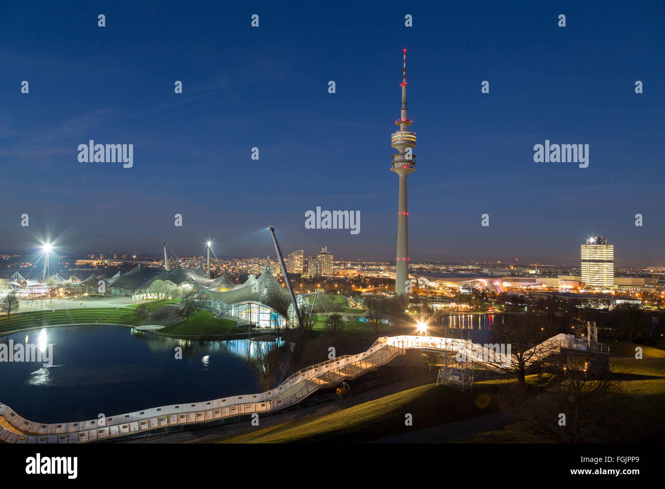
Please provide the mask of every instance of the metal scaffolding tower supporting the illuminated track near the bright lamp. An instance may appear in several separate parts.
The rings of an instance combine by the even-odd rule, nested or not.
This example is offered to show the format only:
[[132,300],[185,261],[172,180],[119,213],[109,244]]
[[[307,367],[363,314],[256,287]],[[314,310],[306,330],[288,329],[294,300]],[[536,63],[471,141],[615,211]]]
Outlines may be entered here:
[[[439,375],[436,378],[436,385],[448,385],[454,389],[470,393],[473,389],[473,361],[469,356],[469,330],[449,328],[445,333],[447,338],[453,339],[450,350],[437,355],[437,365]],[[458,353],[464,351],[461,361],[458,360]]]

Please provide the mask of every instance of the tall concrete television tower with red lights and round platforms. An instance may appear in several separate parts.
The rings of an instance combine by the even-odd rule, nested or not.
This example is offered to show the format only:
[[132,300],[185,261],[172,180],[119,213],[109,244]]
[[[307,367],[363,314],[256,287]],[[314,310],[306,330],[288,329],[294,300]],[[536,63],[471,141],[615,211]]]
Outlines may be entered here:
[[402,111],[399,120],[395,121],[400,130],[390,135],[390,146],[399,152],[392,155],[391,172],[400,176],[400,200],[397,212],[397,266],[395,269],[395,295],[406,292],[406,281],[409,277],[409,238],[408,238],[408,206],[406,204],[406,177],[415,172],[416,155],[412,148],[416,146],[416,133],[410,132],[408,126],[413,120],[406,118],[406,49],[404,49],[404,67],[402,68]]

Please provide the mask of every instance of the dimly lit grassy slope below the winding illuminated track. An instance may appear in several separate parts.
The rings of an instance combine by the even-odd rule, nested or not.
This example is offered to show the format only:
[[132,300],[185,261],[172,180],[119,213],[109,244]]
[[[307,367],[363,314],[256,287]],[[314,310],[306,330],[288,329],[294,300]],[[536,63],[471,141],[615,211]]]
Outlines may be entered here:
[[[213,442],[223,443],[358,443],[459,421],[483,414],[491,408],[477,406],[488,389],[466,393],[434,384],[415,387],[374,401],[259,429],[251,433]],[[482,403],[478,403],[482,404]],[[413,426],[404,424],[405,414],[413,416]]]

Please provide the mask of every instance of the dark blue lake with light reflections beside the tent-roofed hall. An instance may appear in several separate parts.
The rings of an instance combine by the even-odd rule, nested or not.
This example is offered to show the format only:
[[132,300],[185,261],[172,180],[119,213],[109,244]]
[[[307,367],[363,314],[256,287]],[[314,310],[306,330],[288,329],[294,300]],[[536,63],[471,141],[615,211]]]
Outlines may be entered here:
[[[2,342],[24,338],[17,333]],[[251,359],[279,347],[283,365],[290,351],[284,341],[174,339],[109,325],[47,327],[29,332],[31,338],[41,351],[54,345],[57,365],[3,363],[0,401],[38,422],[259,393],[265,378]],[[176,355],[176,347],[182,355]]]

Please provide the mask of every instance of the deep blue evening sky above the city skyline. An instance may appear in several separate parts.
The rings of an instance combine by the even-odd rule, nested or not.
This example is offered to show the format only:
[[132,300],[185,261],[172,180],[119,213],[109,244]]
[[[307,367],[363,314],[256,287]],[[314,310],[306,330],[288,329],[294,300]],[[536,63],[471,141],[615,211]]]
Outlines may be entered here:
[[[0,250],[265,255],[273,225],[285,252],[394,259],[406,48],[412,263],[577,263],[602,235],[664,264],[665,7],[579,3],[3,3]],[[78,162],[89,139],[134,167]],[[545,139],[589,144],[589,168],[533,162]],[[306,230],[317,206],[360,210],[360,234]]]

